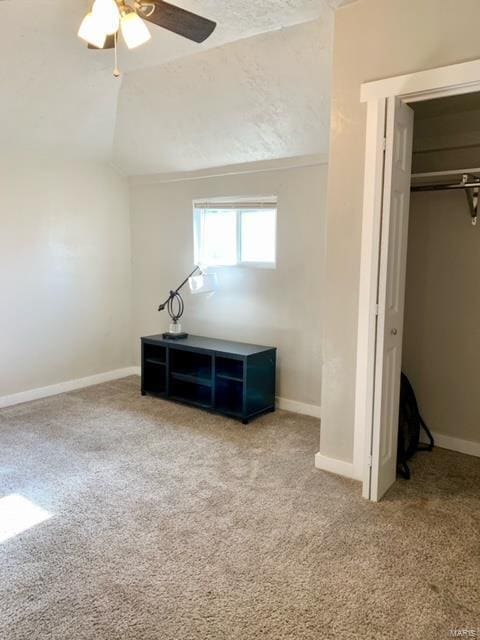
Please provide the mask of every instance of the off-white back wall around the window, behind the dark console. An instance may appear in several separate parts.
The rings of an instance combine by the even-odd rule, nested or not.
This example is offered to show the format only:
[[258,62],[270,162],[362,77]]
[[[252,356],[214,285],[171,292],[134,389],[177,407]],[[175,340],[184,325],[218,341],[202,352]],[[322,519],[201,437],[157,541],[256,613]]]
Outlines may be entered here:
[[326,165],[171,183],[132,181],[134,350],[160,333],[159,302],[193,265],[192,200],[278,195],[277,269],[219,269],[211,297],[185,296],[191,332],[278,347],[277,395],[319,405]]

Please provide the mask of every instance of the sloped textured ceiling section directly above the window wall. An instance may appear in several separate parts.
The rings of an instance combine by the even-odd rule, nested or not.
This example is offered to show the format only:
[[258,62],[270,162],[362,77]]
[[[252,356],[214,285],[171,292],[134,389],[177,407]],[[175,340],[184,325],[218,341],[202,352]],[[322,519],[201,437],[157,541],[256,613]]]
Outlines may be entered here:
[[132,175],[326,153],[324,28],[309,22],[127,74],[115,164]]

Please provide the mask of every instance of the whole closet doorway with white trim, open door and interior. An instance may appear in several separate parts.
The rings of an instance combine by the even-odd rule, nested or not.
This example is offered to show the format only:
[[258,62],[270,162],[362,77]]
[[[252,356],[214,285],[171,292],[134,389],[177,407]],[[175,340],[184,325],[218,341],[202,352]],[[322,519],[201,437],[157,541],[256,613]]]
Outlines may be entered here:
[[475,454],[478,443],[480,453],[480,366],[471,353],[480,349],[480,238],[472,237],[479,70],[474,61],[362,87],[368,116],[354,466],[371,500],[396,479],[402,369],[437,445]]

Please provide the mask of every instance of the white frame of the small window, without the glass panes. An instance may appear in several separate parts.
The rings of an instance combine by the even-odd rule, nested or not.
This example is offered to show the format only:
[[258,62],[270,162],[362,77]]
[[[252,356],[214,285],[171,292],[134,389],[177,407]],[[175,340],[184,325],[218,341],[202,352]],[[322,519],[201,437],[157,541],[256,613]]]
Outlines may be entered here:
[[[206,210],[221,210],[231,209],[235,211],[236,218],[236,262],[235,264],[216,264],[216,265],[198,265],[209,266],[214,268],[226,268],[226,267],[243,267],[254,269],[276,269],[277,268],[277,222],[278,222],[278,202],[277,198],[269,199],[214,199],[214,200],[202,200],[193,201],[193,234],[194,234],[194,257],[195,264],[199,262],[199,256],[201,249],[199,243],[201,243],[201,231],[200,231],[200,215],[202,211]],[[275,212],[275,229],[274,229],[274,247],[275,247],[275,260],[273,262],[259,262],[242,260],[242,214],[244,212],[268,210]]]

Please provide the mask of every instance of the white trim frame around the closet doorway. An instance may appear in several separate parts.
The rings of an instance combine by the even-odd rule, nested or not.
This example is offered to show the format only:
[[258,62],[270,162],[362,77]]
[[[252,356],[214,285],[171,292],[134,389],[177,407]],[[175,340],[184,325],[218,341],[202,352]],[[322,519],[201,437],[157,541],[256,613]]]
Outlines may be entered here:
[[[377,291],[381,256],[381,218],[386,167],[386,115],[390,98],[405,103],[480,91],[480,60],[438,67],[362,84],[360,101],[367,103],[362,241],[358,303],[357,370],[355,382],[354,475],[362,479],[362,495],[371,497]],[[388,243],[386,243],[388,251]],[[382,258],[382,260],[380,260]],[[378,453],[378,452],[377,452]]]

